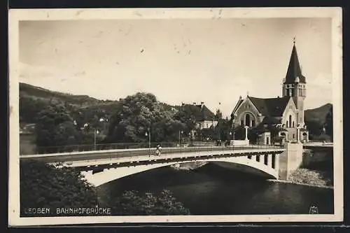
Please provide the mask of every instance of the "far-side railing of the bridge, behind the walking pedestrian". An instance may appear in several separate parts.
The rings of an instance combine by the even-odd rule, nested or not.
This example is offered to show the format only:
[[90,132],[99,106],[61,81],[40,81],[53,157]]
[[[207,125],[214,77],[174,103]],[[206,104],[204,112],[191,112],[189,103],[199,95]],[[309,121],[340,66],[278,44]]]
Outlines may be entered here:
[[[174,141],[165,142],[148,142],[141,143],[105,143],[105,144],[83,144],[83,145],[69,145],[69,146],[45,146],[36,147],[36,154],[52,154],[52,153],[69,153],[80,151],[94,151],[94,150],[118,150],[118,149],[138,149],[138,148],[155,148],[158,144],[162,148],[178,148],[178,147],[202,147],[202,146],[215,146],[213,141],[193,141],[193,143],[183,143]],[[26,155],[26,154],[21,154]]]

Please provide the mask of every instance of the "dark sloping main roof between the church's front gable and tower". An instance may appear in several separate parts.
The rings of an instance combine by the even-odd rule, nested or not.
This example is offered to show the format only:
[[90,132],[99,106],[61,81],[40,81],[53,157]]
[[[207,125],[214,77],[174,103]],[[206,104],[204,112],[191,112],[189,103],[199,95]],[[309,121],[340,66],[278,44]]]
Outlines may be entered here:
[[283,115],[284,110],[288,104],[290,97],[277,97],[277,98],[255,98],[248,97],[258,111],[265,116],[280,117]]

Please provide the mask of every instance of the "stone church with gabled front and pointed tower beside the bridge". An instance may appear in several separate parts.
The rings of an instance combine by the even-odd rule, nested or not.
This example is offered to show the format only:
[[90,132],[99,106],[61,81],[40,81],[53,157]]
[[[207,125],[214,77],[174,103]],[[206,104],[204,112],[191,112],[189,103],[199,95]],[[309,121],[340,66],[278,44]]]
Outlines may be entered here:
[[309,132],[304,124],[306,95],[306,78],[300,69],[294,41],[286,77],[283,78],[282,96],[269,99],[249,95],[239,97],[231,114],[234,132],[235,127],[245,127],[246,139],[253,138],[252,143],[265,145],[308,141]]

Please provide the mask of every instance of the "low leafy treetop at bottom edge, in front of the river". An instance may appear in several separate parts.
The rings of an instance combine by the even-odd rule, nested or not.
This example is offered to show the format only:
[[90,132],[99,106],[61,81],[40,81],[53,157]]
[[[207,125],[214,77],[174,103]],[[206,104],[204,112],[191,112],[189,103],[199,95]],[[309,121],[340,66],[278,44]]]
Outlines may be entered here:
[[160,195],[152,193],[139,195],[136,191],[126,191],[116,200],[113,214],[123,216],[188,215],[190,211],[177,202],[169,190]]

